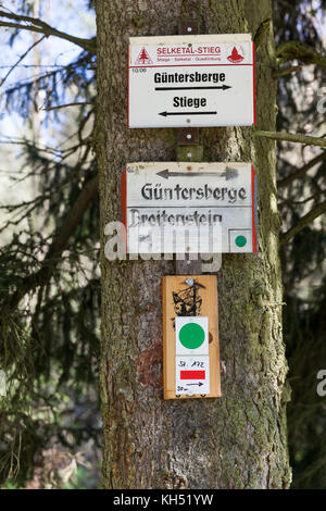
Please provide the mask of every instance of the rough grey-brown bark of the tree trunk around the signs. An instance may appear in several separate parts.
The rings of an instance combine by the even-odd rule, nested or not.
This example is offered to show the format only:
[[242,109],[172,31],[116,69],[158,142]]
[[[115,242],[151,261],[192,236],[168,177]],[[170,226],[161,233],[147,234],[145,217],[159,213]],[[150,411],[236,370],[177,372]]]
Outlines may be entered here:
[[[97,0],[101,232],[121,219],[128,161],[174,161],[174,129],[127,129],[129,36],[256,33],[271,0]],[[272,30],[256,54],[260,129],[275,129]],[[161,277],[171,262],[102,267],[103,484],[106,488],[285,488],[288,466],[275,142],[251,127],[206,128],[204,161],[252,161],[259,175],[260,252],[223,257],[218,272],[223,397],[163,401]],[[105,238],[103,236],[102,247]]]

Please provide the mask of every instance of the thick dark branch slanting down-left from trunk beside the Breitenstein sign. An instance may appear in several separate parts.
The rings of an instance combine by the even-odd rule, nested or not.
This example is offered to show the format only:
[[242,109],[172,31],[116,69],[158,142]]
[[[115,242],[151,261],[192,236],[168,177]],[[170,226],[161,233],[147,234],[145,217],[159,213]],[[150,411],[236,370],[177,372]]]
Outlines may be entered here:
[[5,306],[11,309],[17,307],[20,301],[25,297],[25,295],[27,295],[27,292],[30,292],[37,286],[43,286],[49,282],[70,237],[76,229],[85,211],[88,208],[88,204],[97,192],[98,176],[93,177],[90,182],[87,183],[85,188],[77,197],[76,202],[72,207],[71,211],[66,215],[63,225],[57,228],[54,239],[48,250],[40,270],[23,279],[20,288],[13,292],[11,297],[9,297]]

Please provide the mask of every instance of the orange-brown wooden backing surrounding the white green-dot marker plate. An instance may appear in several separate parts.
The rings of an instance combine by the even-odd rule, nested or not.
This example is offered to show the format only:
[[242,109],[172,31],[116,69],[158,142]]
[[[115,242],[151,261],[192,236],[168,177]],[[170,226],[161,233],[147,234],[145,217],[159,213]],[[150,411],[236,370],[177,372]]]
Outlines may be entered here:
[[[195,288],[193,285],[189,286],[186,283],[186,281],[190,278],[195,283]],[[164,399],[205,399],[221,397],[217,277],[215,275],[166,276],[163,277],[162,291]],[[211,391],[205,396],[201,396],[200,394],[193,396],[176,396],[176,341],[174,319],[177,315],[209,316]]]

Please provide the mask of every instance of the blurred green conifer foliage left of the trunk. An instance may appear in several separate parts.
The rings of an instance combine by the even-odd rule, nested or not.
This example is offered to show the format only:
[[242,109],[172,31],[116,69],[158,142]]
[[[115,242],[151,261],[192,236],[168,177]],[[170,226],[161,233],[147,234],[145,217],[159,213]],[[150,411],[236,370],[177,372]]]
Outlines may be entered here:
[[[21,13],[32,15],[32,2],[21,2]],[[37,109],[36,90],[43,90],[46,107],[54,108],[45,121],[53,130],[47,145],[27,137],[2,140],[17,148],[21,175],[13,184],[27,190],[36,184],[30,200],[1,207],[7,221],[0,234],[7,242],[0,250],[0,369],[8,388],[0,397],[0,484],[10,481],[7,487],[30,481],[51,445],[74,452],[91,438],[99,446],[99,404],[89,401],[99,358],[97,200],[60,245],[71,209],[97,175],[95,67],[96,57],[83,51],[68,65],[5,90],[8,113],[18,112],[27,127]],[[55,109],[77,101],[83,104],[73,114]],[[80,421],[77,409],[85,407]]]

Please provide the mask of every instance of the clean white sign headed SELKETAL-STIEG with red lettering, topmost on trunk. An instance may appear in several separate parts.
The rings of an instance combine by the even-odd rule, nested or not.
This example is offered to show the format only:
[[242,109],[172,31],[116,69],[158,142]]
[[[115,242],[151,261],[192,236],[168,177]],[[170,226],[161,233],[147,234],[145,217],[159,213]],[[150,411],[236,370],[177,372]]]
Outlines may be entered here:
[[131,37],[128,127],[255,123],[250,34]]

